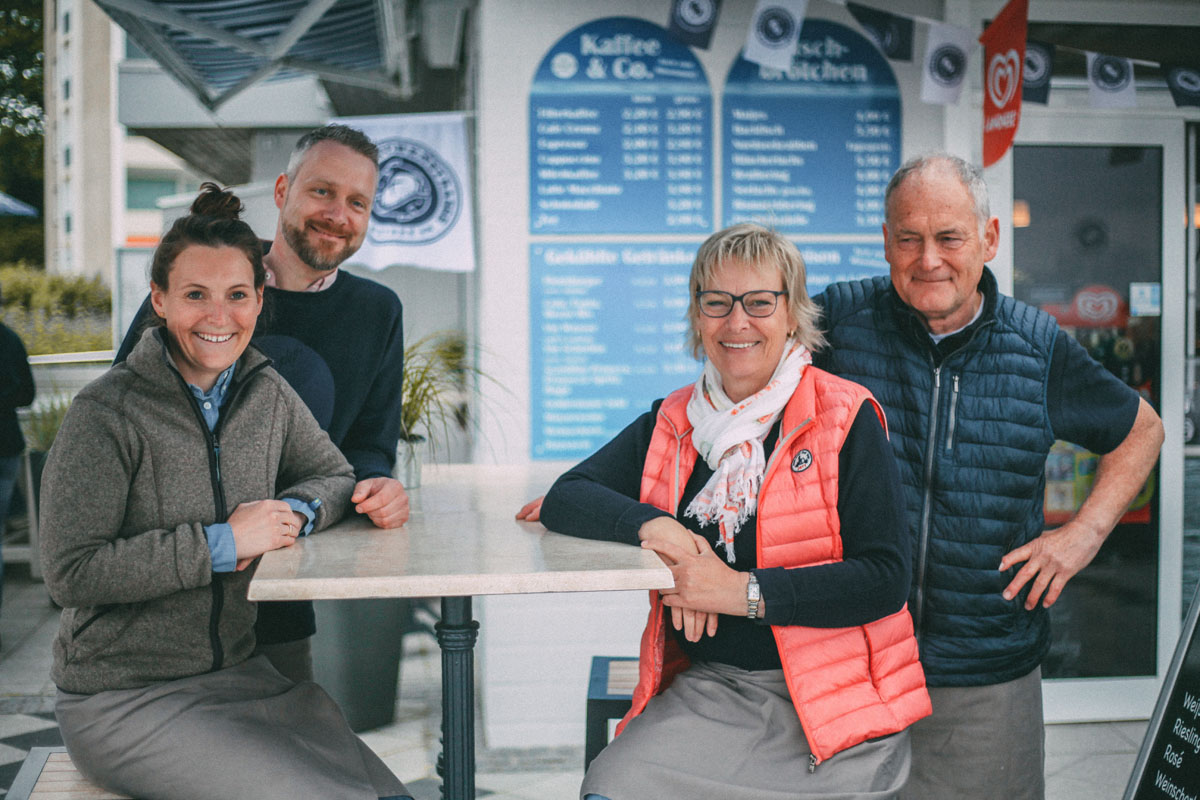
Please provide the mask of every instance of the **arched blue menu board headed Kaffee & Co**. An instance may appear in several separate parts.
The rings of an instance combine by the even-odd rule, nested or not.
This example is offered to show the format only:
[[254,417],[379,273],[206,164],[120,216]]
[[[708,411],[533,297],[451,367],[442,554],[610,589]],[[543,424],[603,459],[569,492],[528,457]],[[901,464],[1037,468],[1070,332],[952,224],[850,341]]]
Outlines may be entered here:
[[530,233],[709,233],[712,115],[703,68],[659,25],[566,34],[529,92]]

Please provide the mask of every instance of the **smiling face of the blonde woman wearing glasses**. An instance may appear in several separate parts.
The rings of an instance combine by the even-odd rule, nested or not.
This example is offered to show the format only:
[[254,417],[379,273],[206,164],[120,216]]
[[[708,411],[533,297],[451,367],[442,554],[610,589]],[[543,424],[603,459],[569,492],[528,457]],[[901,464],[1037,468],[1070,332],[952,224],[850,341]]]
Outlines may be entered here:
[[[732,295],[768,289],[784,290],[784,277],[773,265],[751,266],[744,261],[724,261],[713,270],[712,279],[701,290],[728,291]],[[784,355],[787,332],[787,297],[780,296],[770,317],[751,317],[740,302],[733,303],[727,317],[696,318],[704,355],[721,375],[730,399],[738,403],[767,385]]]

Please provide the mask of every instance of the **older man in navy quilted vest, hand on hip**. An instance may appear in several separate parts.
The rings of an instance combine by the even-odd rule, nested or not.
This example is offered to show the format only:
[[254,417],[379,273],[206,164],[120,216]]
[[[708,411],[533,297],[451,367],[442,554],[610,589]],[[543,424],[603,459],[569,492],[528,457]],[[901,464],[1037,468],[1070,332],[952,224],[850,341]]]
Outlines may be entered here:
[[[910,610],[934,715],[912,729],[906,798],[1044,795],[1046,608],[1152,469],[1163,427],[1054,318],[1001,295],[978,169],[916,158],[886,196],[890,279],[829,287],[816,360],[887,411],[913,547]],[[1056,439],[1103,453],[1075,517],[1044,530]]]

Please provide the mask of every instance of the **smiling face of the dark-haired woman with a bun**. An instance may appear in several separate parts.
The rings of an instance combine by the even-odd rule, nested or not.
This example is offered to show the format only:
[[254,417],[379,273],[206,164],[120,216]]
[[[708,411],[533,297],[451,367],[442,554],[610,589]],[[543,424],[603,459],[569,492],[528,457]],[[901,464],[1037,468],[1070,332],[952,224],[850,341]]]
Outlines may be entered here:
[[175,257],[167,288],[150,285],[150,302],[179,374],[208,391],[250,344],[263,290],[241,251],[192,245]]

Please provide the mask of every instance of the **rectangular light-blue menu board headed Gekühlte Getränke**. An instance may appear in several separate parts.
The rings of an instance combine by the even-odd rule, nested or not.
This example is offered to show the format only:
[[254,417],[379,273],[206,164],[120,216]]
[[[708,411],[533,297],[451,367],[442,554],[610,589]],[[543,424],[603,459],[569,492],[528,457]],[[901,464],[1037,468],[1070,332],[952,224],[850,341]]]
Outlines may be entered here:
[[583,458],[694,381],[694,245],[529,247],[534,458]]

